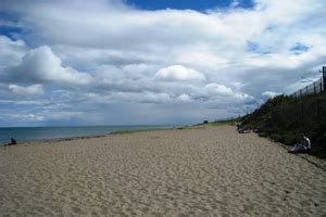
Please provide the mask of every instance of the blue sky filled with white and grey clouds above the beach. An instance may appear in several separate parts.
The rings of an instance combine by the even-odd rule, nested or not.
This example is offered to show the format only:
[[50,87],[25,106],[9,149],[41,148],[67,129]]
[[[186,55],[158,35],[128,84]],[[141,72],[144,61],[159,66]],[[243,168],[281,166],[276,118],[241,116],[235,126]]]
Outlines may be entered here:
[[0,127],[196,124],[317,79],[325,0],[0,0]]

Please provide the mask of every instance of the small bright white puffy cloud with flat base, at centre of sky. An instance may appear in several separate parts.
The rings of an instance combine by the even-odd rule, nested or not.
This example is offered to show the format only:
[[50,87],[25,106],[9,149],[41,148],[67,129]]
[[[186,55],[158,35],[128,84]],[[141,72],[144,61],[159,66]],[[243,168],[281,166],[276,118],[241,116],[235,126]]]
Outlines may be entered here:
[[183,65],[172,65],[161,68],[155,78],[166,81],[203,81],[205,76],[192,68],[187,68]]

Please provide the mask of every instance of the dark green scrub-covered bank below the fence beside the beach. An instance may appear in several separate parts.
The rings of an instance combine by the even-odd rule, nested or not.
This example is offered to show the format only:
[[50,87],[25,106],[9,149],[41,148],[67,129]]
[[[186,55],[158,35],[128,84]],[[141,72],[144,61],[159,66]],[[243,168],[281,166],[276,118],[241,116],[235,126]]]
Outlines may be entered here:
[[275,97],[240,122],[240,130],[256,129],[260,136],[287,145],[299,142],[304,133],[313,145],[311,154],[326,158],[325,92],[302,98]]

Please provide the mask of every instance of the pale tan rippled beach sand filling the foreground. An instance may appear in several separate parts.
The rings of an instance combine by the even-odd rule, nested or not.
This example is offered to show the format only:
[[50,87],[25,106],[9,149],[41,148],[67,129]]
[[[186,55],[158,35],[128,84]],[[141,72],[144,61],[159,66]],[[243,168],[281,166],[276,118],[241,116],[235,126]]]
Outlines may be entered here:
[[326,216],[326,173],[231,126],[0,148],[0,214]]

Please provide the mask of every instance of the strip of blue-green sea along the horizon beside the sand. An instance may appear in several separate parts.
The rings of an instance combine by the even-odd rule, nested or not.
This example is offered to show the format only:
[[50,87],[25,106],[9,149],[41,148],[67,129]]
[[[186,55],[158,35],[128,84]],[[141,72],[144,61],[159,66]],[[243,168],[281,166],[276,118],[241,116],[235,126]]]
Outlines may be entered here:
[[82,136],[109,135],[117,130],[168,129],[172,125],[135,125],[135,126],[83,126],[83,127],[0,127],[0,144],[14,138],[17,143],[39,140]]

